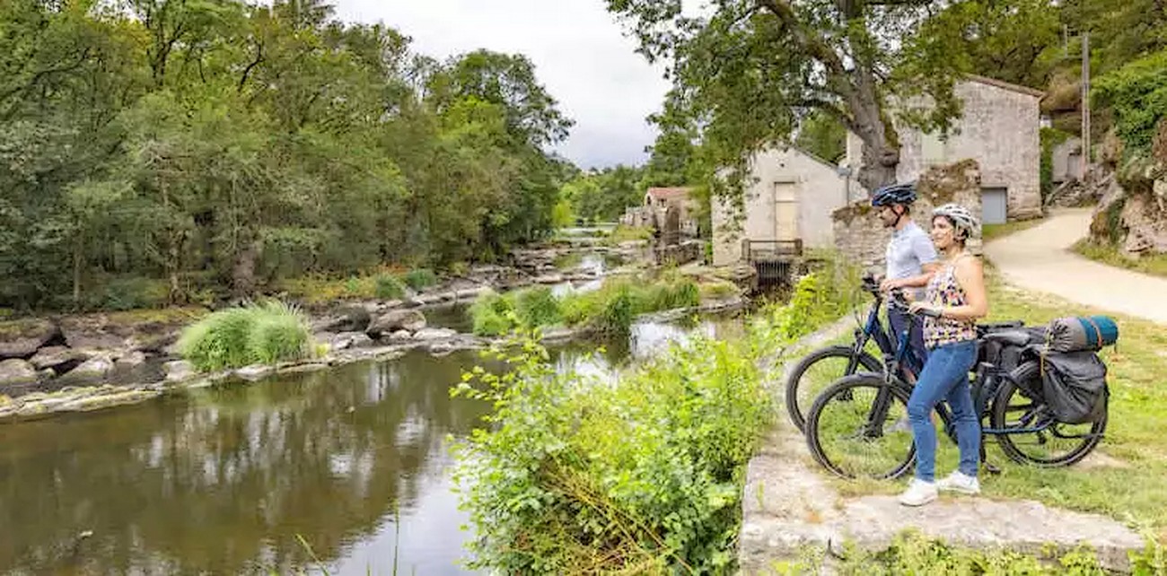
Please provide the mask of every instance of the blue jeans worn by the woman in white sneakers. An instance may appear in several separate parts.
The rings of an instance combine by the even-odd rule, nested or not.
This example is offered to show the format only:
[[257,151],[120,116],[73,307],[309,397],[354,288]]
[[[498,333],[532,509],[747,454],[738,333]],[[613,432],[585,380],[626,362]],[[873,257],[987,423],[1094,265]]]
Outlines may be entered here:
[[980,464],[980,419],[972,405],[969,371],[977,361],[977,340],[944,344],[928,353],[908,400],[908,421],[916,441],[916,478],[936,478],[936,427],[930,417],[941,400],[948,400],[960,449],[960,472],[976,477]]

